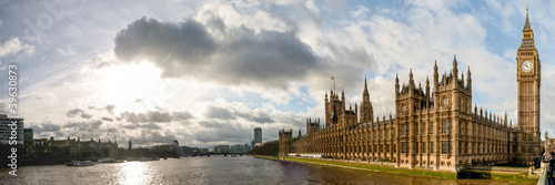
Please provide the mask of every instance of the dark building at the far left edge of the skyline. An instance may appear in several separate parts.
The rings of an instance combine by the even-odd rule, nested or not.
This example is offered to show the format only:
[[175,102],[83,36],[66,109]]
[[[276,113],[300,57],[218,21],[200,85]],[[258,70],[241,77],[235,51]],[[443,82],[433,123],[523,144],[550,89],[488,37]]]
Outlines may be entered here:
[[[16,126],[10,124],[16,122]],[[7,114],[0,114],[0,144],[10,144],[10,136],[12,136],[12,129],[16,131],[16,136],[13,137],[18,145],[23,145],[23,119],[11,117]]]

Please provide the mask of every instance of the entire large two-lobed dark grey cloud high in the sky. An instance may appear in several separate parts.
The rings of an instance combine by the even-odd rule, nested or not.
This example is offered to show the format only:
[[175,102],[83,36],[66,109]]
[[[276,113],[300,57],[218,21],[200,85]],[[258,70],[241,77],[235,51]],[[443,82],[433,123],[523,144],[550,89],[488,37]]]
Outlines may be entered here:
[[[213,39],[209,29],[223,32],[224,40]],[[319,59],[295,31],[255,31],[244,25],[225,29],[220,18],[206,24],[142,18],[117,34],[114,53],[128,62],[148,58],[164,76],[282,89],[290,80],[302,80],[320,68]]]

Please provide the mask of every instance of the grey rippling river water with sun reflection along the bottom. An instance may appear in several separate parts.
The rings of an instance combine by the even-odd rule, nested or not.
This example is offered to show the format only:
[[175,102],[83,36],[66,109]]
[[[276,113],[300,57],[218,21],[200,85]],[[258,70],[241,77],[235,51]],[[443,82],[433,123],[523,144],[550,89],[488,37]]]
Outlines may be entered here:
[[17,177],[6,169],[1,172],[0,184],[509,184],[491,179],[405,176],[251,156],[184,157],[84,167],[22,166]]

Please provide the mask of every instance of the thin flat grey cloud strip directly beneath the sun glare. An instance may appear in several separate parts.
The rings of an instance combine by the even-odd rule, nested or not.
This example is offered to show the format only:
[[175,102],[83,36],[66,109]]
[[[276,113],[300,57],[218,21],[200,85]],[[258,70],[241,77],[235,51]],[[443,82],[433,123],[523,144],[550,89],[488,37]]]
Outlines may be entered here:
[[173,121],[188,121],[193,119],[193,115],[188,111],[184,112],[167,112],[164,110],[149,111],[145,113],[123,112],[120,114],[122,120],[131,123],[163,123]]

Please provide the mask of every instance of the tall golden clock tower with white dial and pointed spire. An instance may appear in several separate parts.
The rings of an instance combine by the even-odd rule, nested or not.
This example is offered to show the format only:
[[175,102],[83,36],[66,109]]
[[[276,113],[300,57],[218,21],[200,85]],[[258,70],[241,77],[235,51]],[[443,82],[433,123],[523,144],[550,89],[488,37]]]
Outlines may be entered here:
[[517,123],[519,160],[531,161],[539,154],[539,86],[542,81],[539,55],[529,25],[528,8],[522,30],[522,43],[516,55],[518,88]]

